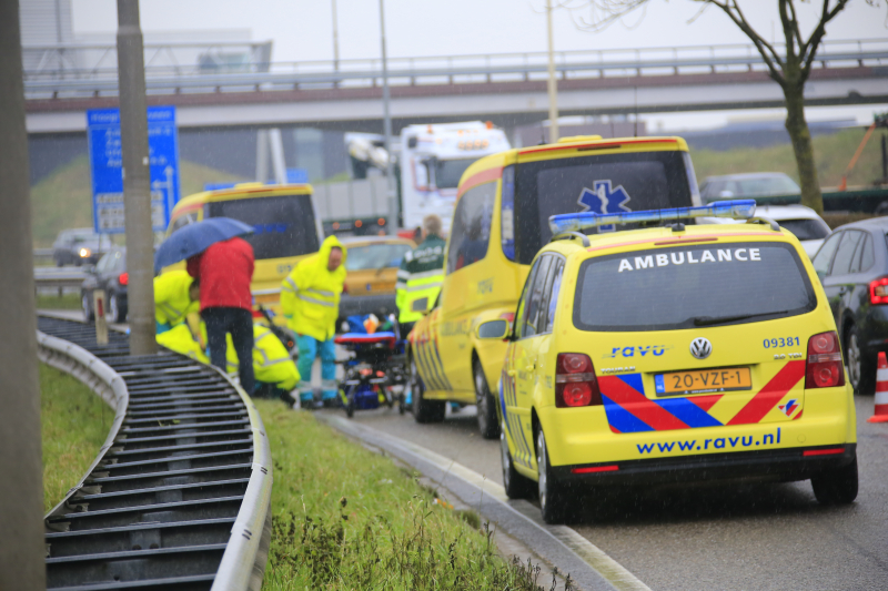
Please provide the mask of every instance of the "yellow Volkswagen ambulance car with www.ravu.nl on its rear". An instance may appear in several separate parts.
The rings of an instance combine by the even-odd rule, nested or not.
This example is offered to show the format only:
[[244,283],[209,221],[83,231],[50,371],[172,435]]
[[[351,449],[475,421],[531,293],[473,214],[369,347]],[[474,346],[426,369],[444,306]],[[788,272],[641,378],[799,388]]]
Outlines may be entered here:
[[477,328],[506,337],[506,493],[538,489],[546,522],[608,486],[810,479],[821,503],[857,497],[854,393],[829,302],[791,233],[767,220],[578,233],[748,218],[755,202],[693,210],[553,216],[567,232],[534,259],[514,328]]

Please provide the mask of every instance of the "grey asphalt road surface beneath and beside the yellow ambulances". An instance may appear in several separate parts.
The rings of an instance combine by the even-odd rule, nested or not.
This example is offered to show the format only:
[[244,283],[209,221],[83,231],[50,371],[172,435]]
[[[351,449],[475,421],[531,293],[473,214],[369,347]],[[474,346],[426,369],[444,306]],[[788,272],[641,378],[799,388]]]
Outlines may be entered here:
[[[824,508],[809,482],[659,488],[586,498],[574,529],[654,590],[888,589],[888,424],[858,397],[860,493]],[[437,425],[397,410],[353,420],[413,441],[502,483],[498,444],[474,407]]]

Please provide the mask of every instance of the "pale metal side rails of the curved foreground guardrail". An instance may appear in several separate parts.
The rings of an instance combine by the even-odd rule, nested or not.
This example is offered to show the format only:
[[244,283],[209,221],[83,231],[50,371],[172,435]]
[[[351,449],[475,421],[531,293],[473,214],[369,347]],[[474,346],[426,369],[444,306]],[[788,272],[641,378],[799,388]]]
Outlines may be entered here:
[[[37,349],[38,358],[41,361],[74,376],[114,409],[114,421],[95,460],[87,469],[80,482],[44,516],[44,520],[47,520],[50,517],[63,514],[65,503],[71,497],[81,490],[87,492],[83,483],[113,446],[127,416],[130,395],[123,378],[117,371],[73,343],[38,330]],[[212,591],[260,591],[271,544],[271,488],[273,481],[271,447],[265,436],[262,418],[253,406],[252,399],[232,381],[228,374],[219,369],[216,371],[231,384],[246,406],[253,436],[253,467],[241,509],[238,511],[238,518],[231,529],[231,538],[213,581]]]

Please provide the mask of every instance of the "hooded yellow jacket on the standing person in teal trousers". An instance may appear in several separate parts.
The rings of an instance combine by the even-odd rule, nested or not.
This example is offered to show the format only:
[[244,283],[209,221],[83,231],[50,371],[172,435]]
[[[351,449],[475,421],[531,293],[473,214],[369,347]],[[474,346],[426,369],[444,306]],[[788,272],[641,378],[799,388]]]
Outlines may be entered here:
[[[342,264],[327,271],[330,251],[342,248]],[[281,308],[286,324],[299,335],[327,340],[336,332],[340,295],[345,284],[347,253],[336,236],[327,236],[317,254],[303,258],[281,287]]]

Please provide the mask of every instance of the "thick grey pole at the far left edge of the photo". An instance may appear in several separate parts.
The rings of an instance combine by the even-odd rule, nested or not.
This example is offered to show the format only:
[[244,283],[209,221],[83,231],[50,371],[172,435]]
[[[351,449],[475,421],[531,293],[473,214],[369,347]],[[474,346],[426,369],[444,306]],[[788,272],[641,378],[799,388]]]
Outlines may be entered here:
[[46,589],[43,462],[19,2],[0,0],[0,589]]

